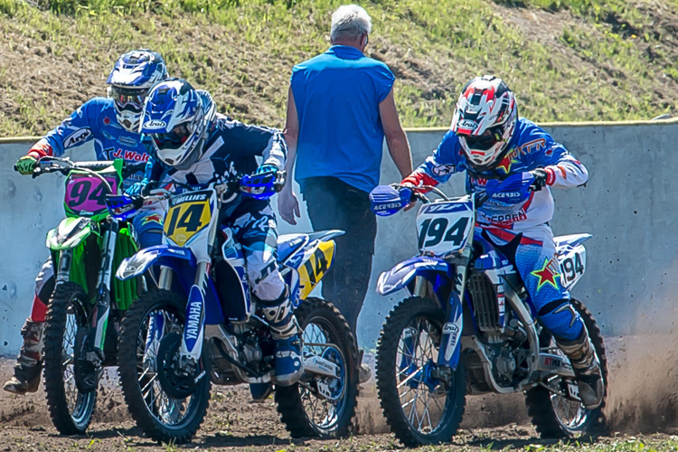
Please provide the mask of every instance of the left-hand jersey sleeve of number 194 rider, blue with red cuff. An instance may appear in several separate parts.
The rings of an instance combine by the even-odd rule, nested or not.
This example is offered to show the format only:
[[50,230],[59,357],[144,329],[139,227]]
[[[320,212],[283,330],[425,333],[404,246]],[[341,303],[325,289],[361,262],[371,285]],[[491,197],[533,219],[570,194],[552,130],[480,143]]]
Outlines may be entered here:
[[458,164],[458,139],[452,132],[447,132],[445,137],[429,155],[423,164],[419,165],[412,174],[402,182],[414,185],[438,185],[449,180],[452,174],[457,173]]

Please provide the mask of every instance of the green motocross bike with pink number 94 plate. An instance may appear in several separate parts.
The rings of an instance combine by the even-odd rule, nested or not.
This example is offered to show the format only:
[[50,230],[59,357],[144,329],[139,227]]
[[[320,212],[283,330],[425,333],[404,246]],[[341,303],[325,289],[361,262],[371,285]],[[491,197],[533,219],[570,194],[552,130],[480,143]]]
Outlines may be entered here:
[[118,325],[137,297],[140,278],[112,278],[122,259],[137,252],[137,242],[126,221],[110,216],[105,199],[140,169],[123,167],[122,159],[71,162],[44,156],[33,170],[33,177],[66,176],[66,218],[47,234],[55,287],[42,357],[47,407],[64,435],[81,434],[89,426],[99,378],[104,367],[117,363]]

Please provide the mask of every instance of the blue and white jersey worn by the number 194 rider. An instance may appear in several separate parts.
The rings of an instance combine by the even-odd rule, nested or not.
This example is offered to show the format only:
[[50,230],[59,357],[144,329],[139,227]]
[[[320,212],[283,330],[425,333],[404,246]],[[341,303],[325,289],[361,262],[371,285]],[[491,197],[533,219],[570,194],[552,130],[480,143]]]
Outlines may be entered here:
[[422,184],[435,185],[447,182],[452,174],[466,171],[466,193],[475,193],[485,190],[488,179],[503,179],[509,174],[540,167],[547,171],[547,186],[539,192],[533,192],[527,201],[510,204],[490,200],[478,209],[478,222],[481,225],[524,231],[553,217],[553,196],[549,187],[569,188],[585,184],[589,179],[584,165],[532,121],[518,118],[508,154],[492,170],[474,171],[466,161],[459,138],[449,131],[438,149],[413,175]]

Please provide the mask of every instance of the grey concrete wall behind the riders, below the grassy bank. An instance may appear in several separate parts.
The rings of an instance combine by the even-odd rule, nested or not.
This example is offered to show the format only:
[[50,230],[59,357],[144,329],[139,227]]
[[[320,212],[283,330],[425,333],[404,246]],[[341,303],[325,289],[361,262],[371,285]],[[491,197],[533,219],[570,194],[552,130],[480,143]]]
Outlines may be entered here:
[[[678,238],[678,123],[546,125],[553,137],[589,167],[584,188],[554,191],[556,234],[590,232],[588,269],[575,287],[598,316],[604,333],[644,334],[673,328],[678,291],[674,265]],[[415,165],[438,145],[439,130],[410,130],[408,136]],[[63,216],[61,176],[48,174],[32,180],[12,171],[16,158],[30,142],[0,142],[0,354],[15,353],[21,344],[19,329],[29,314],[33,278],[47,257],[44,237]],[[90,150],[77,158],[91,157]],[[74,155],[75,156],[75,155]],[[381,183],[399,181],[387,154]],[[463,193],[463,177],[454,176],[443,187],[446,193]],[[297,192],[298,193],[298,192]],[[274,201],[275,203],[275,201]],[[302,209],[304,211],[304,209]],[[280,233],[309,231],[304,217],[297,227],[280,221]],[[372,346],[391,306],[405,294],[379,297],[376,277],[416,250],[416,213],[400,212],[379,218],[377,253],[373,261],[369,295],[358,322],[362,344]]]

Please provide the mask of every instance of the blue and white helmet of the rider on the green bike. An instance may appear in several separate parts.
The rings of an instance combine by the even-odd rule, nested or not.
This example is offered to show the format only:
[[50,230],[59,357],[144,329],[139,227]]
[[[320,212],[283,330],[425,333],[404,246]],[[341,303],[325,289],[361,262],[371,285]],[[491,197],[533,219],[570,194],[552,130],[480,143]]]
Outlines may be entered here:
[[168,77],[165,61],[158,52],[141,49],[127,52],[116,61],[107,83],[120,126],[129,132],[138,131],[148,89]]

